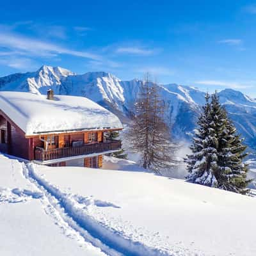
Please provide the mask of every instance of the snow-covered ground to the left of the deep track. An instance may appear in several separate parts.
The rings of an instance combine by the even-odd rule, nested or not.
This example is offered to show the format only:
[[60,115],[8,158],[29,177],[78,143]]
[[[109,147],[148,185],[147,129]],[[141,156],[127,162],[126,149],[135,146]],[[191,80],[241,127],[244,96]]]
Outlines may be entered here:
[[25,172],[0,154],[0,255],[105,255],[68,227]]

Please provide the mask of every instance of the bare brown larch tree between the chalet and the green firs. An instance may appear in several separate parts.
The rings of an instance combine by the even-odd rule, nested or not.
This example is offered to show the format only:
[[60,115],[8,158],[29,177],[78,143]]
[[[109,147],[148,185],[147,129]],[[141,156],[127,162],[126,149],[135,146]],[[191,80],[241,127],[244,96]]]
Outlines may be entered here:
[[158,86],[147,74],[134,104],[135,115],[128,137],[132,150],[141,154],[143,167],[157,173],[173,166],[173,150],[177,148],[164,122],[164,109]]

